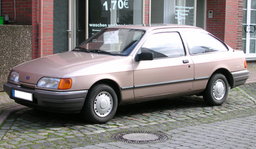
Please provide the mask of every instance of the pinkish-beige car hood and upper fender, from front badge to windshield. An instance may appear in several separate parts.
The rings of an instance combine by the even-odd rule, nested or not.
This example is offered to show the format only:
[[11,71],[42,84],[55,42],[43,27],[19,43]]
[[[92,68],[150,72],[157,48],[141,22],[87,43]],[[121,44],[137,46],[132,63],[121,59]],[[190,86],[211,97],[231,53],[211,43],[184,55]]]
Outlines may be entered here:
[[13,70],[19,72],[20,82],[36,84],[42,77],[67,78],[122,71],[124,67],[121,65],[127,64],[127,59],[130,58],[72,51],[34,59],[14,67]]

